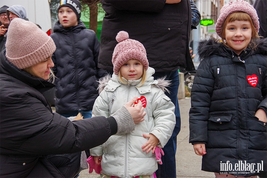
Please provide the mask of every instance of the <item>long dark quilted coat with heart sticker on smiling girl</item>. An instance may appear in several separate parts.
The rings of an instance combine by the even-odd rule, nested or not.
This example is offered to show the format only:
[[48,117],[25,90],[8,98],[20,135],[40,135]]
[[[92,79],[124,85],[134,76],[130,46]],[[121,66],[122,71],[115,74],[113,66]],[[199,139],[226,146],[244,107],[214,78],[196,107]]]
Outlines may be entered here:
[[[267,39],[256,43],[257,51],[247,48],[239,56],[214,39],[199,44],[203,61],[191,90],[189,142],[206,144],[203,171],[244,177],[266,174],[267,124],[255,112],[267,108]],[[222,170],[227,161],[232,169]],[[255,163],[255,172],[242,170],[238,161]],[[258,163],[263,166],[259,172]]]

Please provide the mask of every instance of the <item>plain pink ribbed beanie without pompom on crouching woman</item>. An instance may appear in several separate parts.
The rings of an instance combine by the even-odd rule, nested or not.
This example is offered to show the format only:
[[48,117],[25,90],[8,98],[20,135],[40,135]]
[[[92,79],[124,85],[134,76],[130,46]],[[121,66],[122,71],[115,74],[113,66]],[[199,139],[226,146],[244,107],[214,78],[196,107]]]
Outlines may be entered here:
[[33,66],[55,52],[53,39],[36,24],[15,18],[8,27],[6,57],[19,69]]

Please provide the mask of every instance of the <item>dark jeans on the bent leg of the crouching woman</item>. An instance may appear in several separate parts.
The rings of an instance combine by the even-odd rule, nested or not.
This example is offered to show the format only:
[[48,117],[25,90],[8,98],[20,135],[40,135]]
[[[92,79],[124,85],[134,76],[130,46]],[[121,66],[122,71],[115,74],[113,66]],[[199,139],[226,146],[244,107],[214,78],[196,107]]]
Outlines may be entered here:
[[46,158],[64,177],[76,177],[80,172],[81,152],[64,155],[47,155]]

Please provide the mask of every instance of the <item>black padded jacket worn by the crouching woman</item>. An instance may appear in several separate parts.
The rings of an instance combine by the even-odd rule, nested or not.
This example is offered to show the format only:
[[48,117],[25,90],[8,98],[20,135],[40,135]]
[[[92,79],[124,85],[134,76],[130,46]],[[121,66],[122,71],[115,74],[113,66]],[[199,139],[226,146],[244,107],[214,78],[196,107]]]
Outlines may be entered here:
[[55,85],[18,69],[9,63],[4,52],[0,56],[0,177],[27,177],[34,169],[39,174],[31,174],[32,177],[60,177],[54,171],[42,175],[42,170],[36,168],[42,155],[96,147],[112,135],[110,124],[116,125],[116,121],[96,117],[71,122],[52,113],[42,92]]

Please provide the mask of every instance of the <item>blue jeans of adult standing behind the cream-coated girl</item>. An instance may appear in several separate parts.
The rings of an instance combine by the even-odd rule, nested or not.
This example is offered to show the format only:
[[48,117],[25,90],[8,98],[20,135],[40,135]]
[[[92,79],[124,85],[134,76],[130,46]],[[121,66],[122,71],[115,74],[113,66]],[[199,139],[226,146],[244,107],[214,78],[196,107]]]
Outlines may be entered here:
[[171,86],[169,86],[167,89],[170,91],[170,93],[165,93],[169,98],[171,98],[171,101],[173,102],[175,106],[175,117],[176,117],[176,124],[172,133],[171,138],[167,142],[167,144],[164,146],[164,156],[161,156],[162,164],[158,164],[158,170],[156,171],[157,178],[176,178],[176,162],[175,162],[175,153],[176,153],[176,147],[177,147],[177,135],[180,132],[181,129],[181,116],[180,116],[180,110],[179,110],[179,104],[178,104],[178,87],[179,87],[179,72],[177,71],[171,71],[171,72],[155,72],[153,75],[154,79],[158,79],[160,77],[166,77],[166,80],[171,80]]

